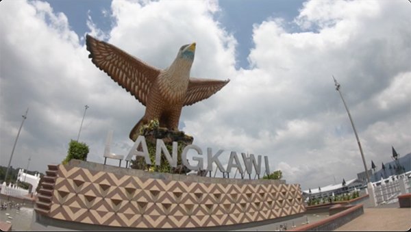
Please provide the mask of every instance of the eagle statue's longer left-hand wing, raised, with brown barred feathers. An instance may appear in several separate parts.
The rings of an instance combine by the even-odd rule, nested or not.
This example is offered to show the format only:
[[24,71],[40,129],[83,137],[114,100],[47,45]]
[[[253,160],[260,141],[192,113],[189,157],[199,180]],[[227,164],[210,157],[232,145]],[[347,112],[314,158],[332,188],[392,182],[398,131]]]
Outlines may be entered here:
[[130,92],[142,105],[147,103],[151,85],[158,77],[160,70],[145,64],[136,57],[107,42],[86,36],[88,57],[119,86]]

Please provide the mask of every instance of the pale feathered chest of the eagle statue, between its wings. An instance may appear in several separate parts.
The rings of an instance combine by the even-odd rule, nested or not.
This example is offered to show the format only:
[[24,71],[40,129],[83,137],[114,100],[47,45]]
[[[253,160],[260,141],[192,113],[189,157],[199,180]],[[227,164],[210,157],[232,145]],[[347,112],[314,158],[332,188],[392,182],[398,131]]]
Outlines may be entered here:
[[191,64],[186,63],[188,62],[174,62],[158,75],[158,88],[164,101],[169,103],[184,102],[191,68]]

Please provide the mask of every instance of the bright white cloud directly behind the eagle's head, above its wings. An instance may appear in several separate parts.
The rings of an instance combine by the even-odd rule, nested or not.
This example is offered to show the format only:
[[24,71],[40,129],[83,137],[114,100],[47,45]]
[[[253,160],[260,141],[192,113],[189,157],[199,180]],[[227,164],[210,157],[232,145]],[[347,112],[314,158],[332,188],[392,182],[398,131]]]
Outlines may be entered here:
[[113,1],[112,10],[116,26],[110,33],[110,42],[121,43],[125,51],[153,66],[166,68],[179,47],[197,42],[192,75],[206,73],[203,78],[227,79],[234,71],[236,41],[212,20],[216,5],[206,1],[158,1],[145,5]]

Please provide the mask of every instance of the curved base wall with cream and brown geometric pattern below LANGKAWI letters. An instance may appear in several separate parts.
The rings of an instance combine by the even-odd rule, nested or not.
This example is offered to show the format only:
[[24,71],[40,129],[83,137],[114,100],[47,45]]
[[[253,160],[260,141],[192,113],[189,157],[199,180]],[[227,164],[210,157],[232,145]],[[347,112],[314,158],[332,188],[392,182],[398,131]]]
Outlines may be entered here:
[[49,211],[38,213],[110,227],[182,229],[261,222],[305,211],[298,184],[207,177],[192,181],[87,163],[57,166]]

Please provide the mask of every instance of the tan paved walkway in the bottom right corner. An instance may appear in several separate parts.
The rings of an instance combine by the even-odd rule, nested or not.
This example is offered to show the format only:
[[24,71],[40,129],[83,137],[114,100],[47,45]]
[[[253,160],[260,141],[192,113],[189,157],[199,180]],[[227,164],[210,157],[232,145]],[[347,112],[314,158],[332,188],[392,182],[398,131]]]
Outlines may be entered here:
[[410,231],[411,208],[399,203],[365,208],[364,214],[335,231]]

